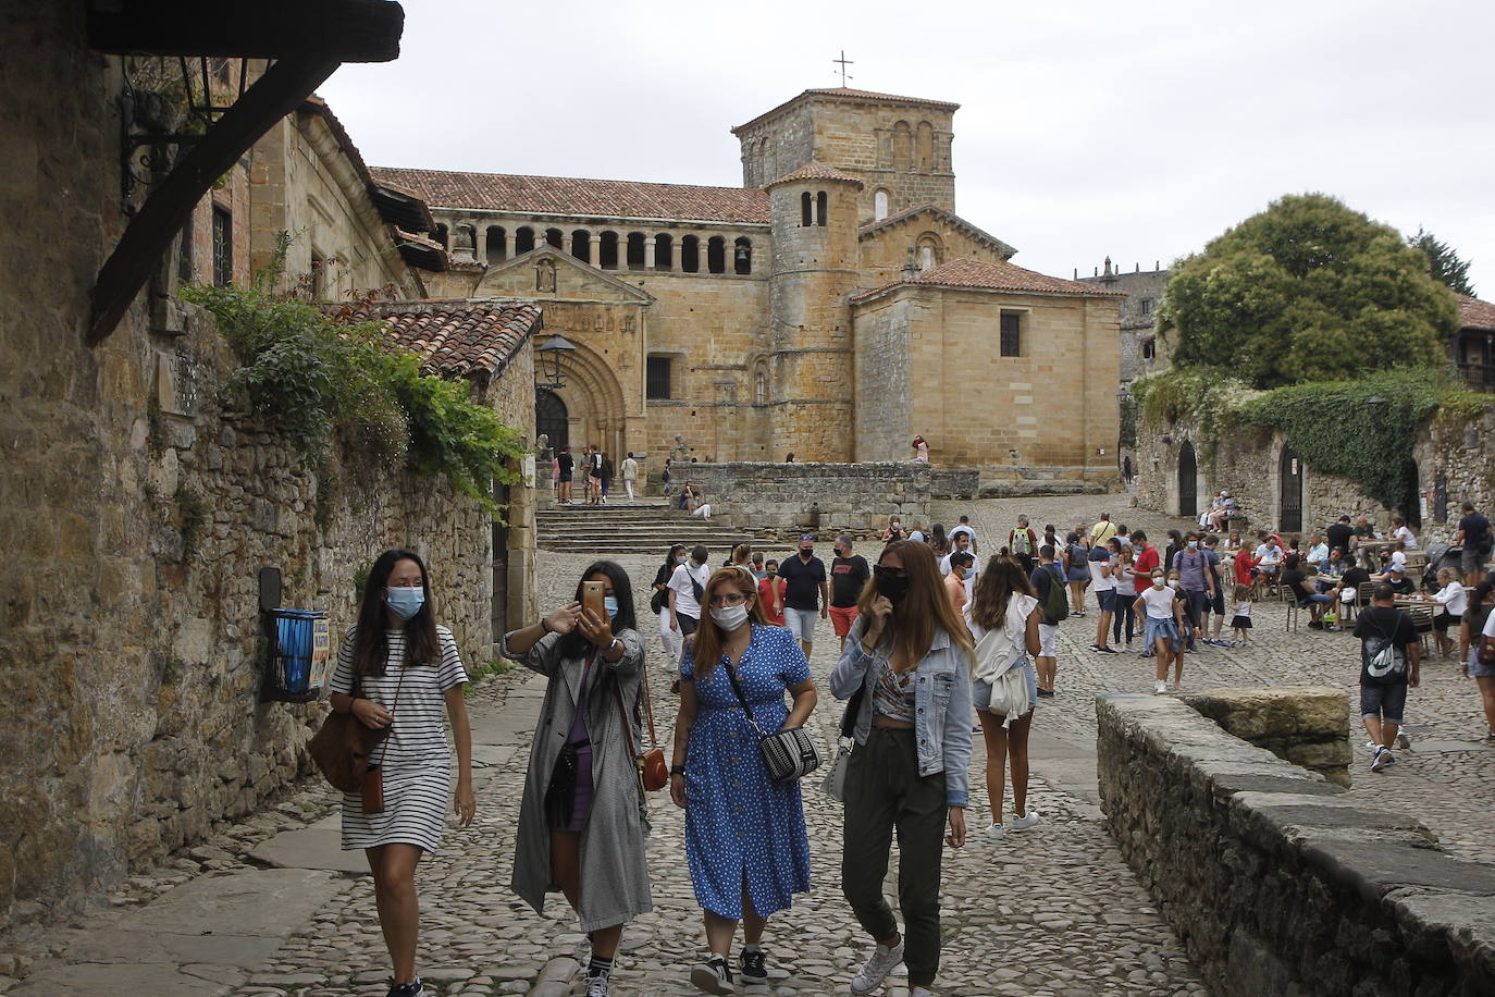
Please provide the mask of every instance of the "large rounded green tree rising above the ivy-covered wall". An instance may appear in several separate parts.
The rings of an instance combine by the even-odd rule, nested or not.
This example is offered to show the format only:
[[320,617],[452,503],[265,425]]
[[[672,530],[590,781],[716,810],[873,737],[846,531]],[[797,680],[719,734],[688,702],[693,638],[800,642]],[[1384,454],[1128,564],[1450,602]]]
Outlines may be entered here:
[[1160,327],[1175,365],[1269,389],[1441,363],[1459,311],[1395,229],[1295,194],[1178,263]]

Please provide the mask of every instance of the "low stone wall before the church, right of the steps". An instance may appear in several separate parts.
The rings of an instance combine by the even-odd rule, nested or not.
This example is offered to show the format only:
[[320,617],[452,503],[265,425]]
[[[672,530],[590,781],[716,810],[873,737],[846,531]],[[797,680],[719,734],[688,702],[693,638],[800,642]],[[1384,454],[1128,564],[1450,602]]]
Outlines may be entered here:
[[904,526],[930,525],[930,499],[972,498],[975,469],[885,463],[692,463],[680,475],[701,486],[713,516],[750,529],[881,529],[897,513]]

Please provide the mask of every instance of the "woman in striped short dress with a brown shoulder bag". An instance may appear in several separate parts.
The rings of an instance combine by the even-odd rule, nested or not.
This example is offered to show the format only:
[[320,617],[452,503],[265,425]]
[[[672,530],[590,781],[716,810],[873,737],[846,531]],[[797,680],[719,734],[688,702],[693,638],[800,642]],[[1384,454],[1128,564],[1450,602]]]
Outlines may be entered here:
[[466,671],[451,631],[437,626],[431,578],[420,556],[386,550],[369,568],[359,622],[338,652],[332,709],[351,712],[389,735],[374,749],[384,809],[363,812],[359,794],[342,797],[342,848],[362,848],[374,871],[374,898],[395,969],[389,997],[422,997],[416,976],[419,904],[416,865],[441,845],[451,797],[451,749],[441,714],[456,740],[456,813],[472,822],[472,738],[462,685]]

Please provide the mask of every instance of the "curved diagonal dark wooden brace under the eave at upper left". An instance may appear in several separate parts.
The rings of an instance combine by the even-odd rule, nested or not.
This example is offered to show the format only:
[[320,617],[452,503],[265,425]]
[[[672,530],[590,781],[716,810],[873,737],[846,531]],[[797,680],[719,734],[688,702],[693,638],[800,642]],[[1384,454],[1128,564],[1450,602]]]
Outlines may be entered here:
[[151,191],[99,271],[88,345],[103,342],[120,324],[214,181],[227,173],[271,126],[295,111],[336,67],[336,61],[312,58],[287,58],[272,64],[182,154],[166,179]]

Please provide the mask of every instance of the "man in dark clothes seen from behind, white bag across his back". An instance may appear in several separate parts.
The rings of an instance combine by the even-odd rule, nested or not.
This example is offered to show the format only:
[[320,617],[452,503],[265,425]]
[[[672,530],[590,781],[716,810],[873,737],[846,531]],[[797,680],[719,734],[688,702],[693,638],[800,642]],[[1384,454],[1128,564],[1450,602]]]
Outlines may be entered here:
[[1360,638],[1360,720],[1375,744],[1371,771],[1396,762],[1392,744],[1407,709],[1407,689],[1420,679],[1417,628],[1396,608],[1395,598],[1389,584],[1377,584],[1369,608],[1354,622]]

